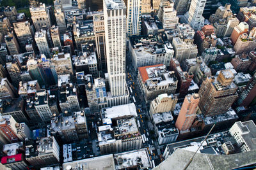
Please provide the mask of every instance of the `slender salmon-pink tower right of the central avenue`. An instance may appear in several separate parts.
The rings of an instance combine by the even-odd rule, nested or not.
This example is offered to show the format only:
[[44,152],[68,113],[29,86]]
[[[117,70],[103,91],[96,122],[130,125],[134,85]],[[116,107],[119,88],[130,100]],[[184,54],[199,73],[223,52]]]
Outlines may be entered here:
[[177,127],[181,133],[182,131],[188,132],[190,129],[194,119],[196,118],[196,113],[199,111],[199,101],[200,99],[198,94],[187,95],[185,97],[175,123],[175,127]]

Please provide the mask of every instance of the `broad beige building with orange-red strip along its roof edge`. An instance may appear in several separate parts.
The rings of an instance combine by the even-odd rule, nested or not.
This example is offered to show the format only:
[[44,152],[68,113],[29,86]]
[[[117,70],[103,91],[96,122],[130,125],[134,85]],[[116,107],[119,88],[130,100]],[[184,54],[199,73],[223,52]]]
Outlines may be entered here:
[[159,94],[175,94],[178,80],[174,71],[166,71],[163,64],[138,68],[138,82],[147,102]]

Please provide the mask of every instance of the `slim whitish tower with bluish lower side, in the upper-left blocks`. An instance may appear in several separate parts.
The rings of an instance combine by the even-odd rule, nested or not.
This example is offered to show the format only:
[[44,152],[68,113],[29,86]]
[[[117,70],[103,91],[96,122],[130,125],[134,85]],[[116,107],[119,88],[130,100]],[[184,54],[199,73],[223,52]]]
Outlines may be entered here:
[[47,38],[47,33],[44,29],[41,29],[40,31],[36,31],[35,41],[39,49],[39,52],[49,57],[50,56],[49,41]]

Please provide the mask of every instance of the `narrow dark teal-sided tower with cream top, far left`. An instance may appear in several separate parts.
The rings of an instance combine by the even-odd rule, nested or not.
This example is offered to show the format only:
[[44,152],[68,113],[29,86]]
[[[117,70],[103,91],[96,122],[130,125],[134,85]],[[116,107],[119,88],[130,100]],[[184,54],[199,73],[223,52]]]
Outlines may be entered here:
[[43,87],[45,85],[45,80],[37,65],[37,61],[31,58],[28,60],[27,66],[28,66],[29,75],[31,76],[32,80],[37,80],[40,87]]

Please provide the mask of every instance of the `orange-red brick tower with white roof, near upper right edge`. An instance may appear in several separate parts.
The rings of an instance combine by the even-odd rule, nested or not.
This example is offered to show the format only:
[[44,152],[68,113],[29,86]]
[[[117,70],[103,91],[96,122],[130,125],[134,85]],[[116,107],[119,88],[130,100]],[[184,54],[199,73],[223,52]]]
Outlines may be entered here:
[[234,28],[234,30],[230,36],[230,39],[231,39],[233,45],[236,44],[236,41],[239,38],[239,36],[241,36],[241,34],[246,33],[248,31],[249,31],[249,25],[246,22],[240,22],[240,24],[238,24]]

